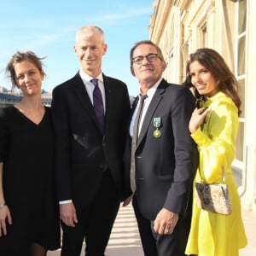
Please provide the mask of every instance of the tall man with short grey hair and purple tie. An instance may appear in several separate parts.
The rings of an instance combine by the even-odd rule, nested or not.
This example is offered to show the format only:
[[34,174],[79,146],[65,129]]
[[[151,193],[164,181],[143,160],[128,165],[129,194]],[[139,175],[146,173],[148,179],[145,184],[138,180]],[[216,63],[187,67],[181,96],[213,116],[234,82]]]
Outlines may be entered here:
[[74,52],[80,70],[53,90],[55,177],[63,230],[61,255],[103,256],[124,199],[123,151],[130,113],[126,85],[102,73],[104,33],[83,26]]

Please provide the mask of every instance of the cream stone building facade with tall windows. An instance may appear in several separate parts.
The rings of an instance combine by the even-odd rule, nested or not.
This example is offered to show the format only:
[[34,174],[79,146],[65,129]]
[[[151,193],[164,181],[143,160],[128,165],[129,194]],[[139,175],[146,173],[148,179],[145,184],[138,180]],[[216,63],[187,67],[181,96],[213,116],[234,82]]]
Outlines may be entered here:
[[153,7],[149,38],[165,55],[166,80],[182,83],[189,54],[202,47],[216,49],[236,74],[243,104],[233,168],[243,207],[256,212],[256,1],[156,0]]

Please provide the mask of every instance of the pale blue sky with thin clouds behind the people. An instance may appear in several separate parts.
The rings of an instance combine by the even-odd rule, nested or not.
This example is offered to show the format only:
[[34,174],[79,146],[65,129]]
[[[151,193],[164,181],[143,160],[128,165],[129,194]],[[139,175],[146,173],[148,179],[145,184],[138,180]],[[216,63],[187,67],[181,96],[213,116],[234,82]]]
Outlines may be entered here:
[[0,86],[10,89],[5,67],[17,50],[31,49],[44,59],[44,90],[73,77],[79,70],[74,55],[75,33],[86,24],[102,27],[108,52],[103,73],[123,80],[131,96],[139,85],[130,72],[133,44],[148,39],[154,0],[3,1],[0,9]]

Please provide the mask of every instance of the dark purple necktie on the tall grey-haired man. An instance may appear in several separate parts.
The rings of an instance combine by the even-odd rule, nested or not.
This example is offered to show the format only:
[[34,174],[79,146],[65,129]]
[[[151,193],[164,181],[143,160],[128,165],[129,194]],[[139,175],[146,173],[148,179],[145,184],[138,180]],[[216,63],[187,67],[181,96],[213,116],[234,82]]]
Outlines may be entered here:
[[104,117],[104,106],[102,100],[102,92],[99,88],[98,79],[91,79],[92,84],[95,85],[93,90],[93,106],[95,108],[96,117],[101,125],[102,131],[104,131],[105,117]]

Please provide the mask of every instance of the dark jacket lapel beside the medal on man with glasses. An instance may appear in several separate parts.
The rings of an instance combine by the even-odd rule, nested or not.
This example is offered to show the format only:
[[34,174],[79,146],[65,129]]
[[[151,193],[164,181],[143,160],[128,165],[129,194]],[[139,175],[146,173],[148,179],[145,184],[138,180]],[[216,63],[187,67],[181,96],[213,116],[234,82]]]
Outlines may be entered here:
[[[142,129],[141,129],[140,135],[137,139],[137,147],[143,141],[143,137],[145,137],[145,135],[148,131],[148,126],[153,125],[153,124],[151,124],[151,120],[153,119],[155,109],[158,107],[158,105],[160,104],[160,102],[163,98],[163,94],[164,94],[165,90],[166,90],[166,81],[162,80],[162,82],[160,83],[159,87],[155,91],[154,96],[148,106],[148,111],[143,120]],[[152,134],[152,136],[153,136],[153,134]]]

